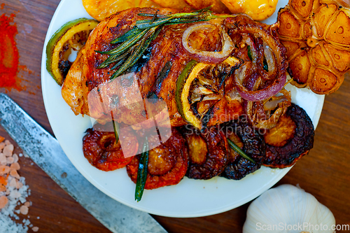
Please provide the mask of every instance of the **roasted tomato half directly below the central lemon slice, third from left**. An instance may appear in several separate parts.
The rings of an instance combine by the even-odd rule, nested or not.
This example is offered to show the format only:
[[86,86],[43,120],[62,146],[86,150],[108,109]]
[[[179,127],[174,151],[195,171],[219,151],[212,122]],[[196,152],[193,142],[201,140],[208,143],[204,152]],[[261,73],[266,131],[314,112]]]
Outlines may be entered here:
[[186,125],[183,135],[190,148],[188,178],[207,180],[223,172],[228,164],[228,141],[223,133],[218,132],[218,127],[200,132]]

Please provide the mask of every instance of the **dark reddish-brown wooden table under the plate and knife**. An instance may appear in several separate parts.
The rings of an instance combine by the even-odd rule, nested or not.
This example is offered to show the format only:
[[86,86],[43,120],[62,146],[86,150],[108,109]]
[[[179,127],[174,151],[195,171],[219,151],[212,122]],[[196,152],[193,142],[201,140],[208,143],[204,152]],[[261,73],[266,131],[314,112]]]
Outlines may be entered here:
[[[75,0],[78,1],[78,0]],[[41,52],[45,34],[59,0],[2,0],[0,14],[15,13],[20,52],[18,76],[26,90],[7,92],[48,132],[52,133],[41,94]],[[23,67],[26,66],[26,67]],[[350,80],[325,97],[314,148],[277,185],[300,184],[328,206],[337,224],[350,224]],[[307,100],[306,100],[307,101]],[[0,127],[0,135],[9,138]],[[20,149],[17,149],[20,150]],[[20,160],[21,176],[31,188],[30,220],[40,232],[109,232],[31,160]],[[248,204],[215,216],[165,218],[153,216],[168,232],[241,232]],[[36,217],[39,216],[40,219]]]

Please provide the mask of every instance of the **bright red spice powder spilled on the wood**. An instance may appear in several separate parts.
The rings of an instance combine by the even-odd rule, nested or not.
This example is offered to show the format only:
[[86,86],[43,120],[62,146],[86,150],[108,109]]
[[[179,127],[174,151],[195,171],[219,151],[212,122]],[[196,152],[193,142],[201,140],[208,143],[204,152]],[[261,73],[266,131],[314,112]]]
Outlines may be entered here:
[[13,23],[13,17],[14,14],[10,17],[5,14],[0,16],[0,87],[21,90],[16,78],[19,55],[15,35],[18,34],[18,30],[17,25]]

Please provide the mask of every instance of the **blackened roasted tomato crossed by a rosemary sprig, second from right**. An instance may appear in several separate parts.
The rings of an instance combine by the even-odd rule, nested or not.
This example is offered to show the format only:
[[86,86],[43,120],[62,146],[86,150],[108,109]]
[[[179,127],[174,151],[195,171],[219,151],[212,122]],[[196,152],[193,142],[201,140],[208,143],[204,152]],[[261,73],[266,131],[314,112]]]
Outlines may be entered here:
[[[223,171],[221,176],[233,180],[240,180],[253,171],[260,169],[262,160],[265,158],[265,142],[262,136],[248,124],[248,119],[244,117],[228,124],[226,129],[231,141],[239,147],[243,144],[242,149],[244,153],[252,157],[255,161],[255,163],[250,162],[241,156],[231,157],[230,163],[225,167],[225,171]],[[232,134],[235,134],[235,136]],[[240,140],[235,139],[237,136]],[[232,155],[232,153],[230,154]]]

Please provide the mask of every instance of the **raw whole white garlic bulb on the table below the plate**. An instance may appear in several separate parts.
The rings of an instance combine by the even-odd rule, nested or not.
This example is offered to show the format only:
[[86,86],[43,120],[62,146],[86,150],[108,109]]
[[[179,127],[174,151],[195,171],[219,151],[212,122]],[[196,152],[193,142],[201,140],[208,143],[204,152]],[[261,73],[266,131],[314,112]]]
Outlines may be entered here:
[[264,192],[248,207],[243,233],[332,233],[332,212],[311,194],[293,185]]

